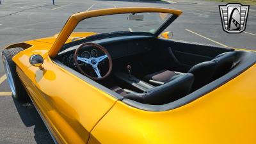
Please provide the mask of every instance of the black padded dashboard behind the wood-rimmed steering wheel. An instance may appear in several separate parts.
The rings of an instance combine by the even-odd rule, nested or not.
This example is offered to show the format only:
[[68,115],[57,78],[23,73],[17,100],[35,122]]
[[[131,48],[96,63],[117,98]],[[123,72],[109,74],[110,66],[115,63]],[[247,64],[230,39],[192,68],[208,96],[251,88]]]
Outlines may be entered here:
[[[119,36],[114,38],[104,38],[102,40],[91,41],[102,45],[111,55],[112,60],[142,54],[152,50],[154,37],[152,36]],[[70,68],[76,67],[74,64],[74,53],[81,44],[69,45],[65,50],[59,52],[57,59]],[[78,55],[82,58],[101,56],[104,52],[95,47],[84,47]]]

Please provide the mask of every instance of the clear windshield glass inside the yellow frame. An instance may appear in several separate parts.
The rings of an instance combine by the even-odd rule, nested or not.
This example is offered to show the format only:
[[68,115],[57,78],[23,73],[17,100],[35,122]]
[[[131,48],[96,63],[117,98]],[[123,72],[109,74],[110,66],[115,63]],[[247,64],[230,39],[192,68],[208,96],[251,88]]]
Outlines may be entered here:
[[[125,13],[104,15],[84,19],[76,26],[73,33],[75,40],[89,35],[118,32],[147,32],[155,33],[168,20],[170,13]],[[84,33],[90,32],[90,33]],[[84,36],[83,36],[84,35]],[[80,37],[79,37],[80,36]],[[74,41],[74,40],[72,40]]]

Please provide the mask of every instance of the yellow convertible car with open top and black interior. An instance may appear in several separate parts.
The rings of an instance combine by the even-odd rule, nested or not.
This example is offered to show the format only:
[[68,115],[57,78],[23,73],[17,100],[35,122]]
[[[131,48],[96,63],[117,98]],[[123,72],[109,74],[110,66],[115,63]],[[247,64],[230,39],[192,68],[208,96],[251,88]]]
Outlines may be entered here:
[[181,13],[75,13],[10,45],[13,97],[33,101],[56,143],[256,143],[256,53],[162,37]]

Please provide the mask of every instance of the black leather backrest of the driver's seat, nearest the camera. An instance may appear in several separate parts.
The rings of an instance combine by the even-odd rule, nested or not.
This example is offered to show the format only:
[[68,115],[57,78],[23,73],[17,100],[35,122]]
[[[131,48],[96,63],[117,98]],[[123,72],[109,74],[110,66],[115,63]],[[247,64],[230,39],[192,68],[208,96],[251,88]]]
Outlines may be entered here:
[[136,100],[143,104],[166,104],[188,95],[193,81],[193,74],[179,74],[173,76],[168,83],[143,93],[128,93],[124,95],[124,98]]

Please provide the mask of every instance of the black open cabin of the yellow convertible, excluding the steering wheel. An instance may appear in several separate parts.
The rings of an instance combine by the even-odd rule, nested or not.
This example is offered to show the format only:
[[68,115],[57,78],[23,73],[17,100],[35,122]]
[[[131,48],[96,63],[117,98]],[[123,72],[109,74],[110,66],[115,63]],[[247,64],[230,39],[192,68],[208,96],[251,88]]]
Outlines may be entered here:
[[[240,61],[239,52],[234,49],[153,36],[118,36],[90,43],[104,47],[111,57],[111,63],[105,58],[98,65],[100,76],[105,76],[111,65],[109,75],[92,80],[124,99],[142,104],[161,105],[178,100],[224,76]],[[100,58],[104,51],[81,44],[84,41],[65,45],[56,60],[81,74],[86,73],[85,76],[97,77],[92,65],[76,57]]]

